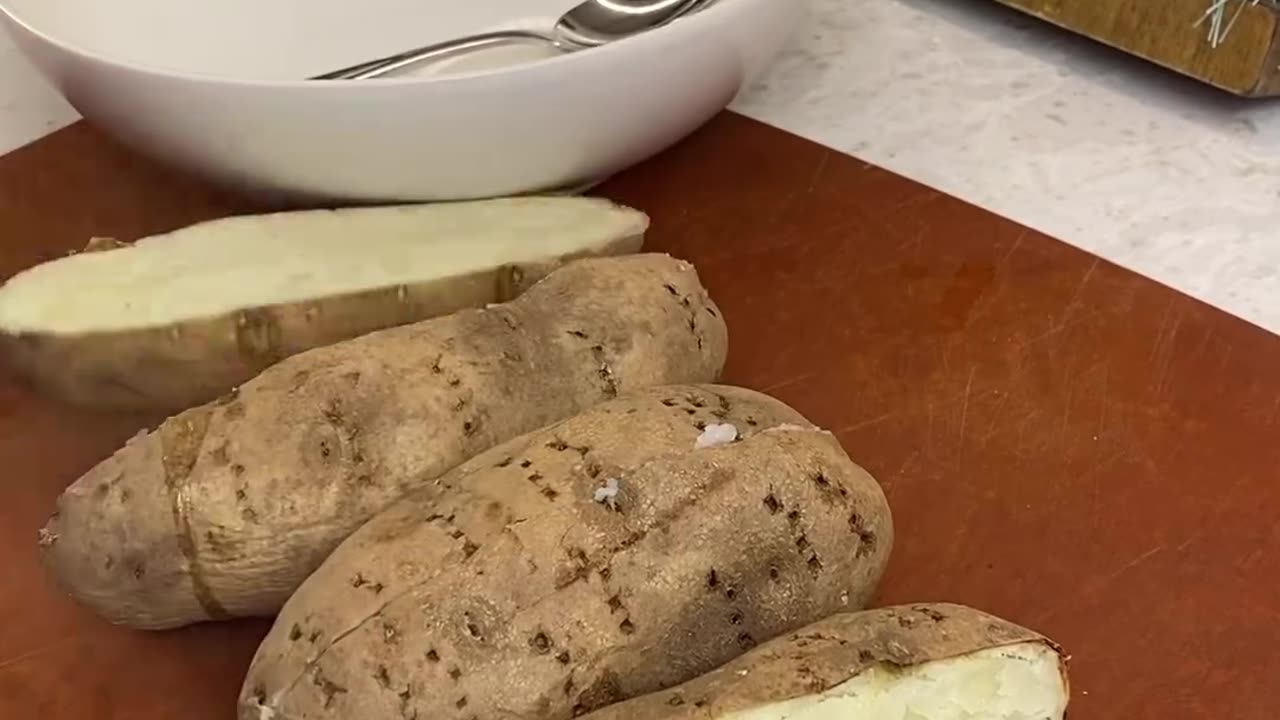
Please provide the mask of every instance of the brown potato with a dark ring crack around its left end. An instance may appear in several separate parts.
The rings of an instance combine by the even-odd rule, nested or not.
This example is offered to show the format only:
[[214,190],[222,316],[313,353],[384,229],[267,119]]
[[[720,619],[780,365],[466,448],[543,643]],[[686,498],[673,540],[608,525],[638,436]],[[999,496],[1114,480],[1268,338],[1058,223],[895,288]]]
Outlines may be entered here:
[[618,393],[713,382],[727,329],[687,263],[580,260],[515,301],[288,357],[77,480],[49,570],[108,620],[274,615],[379,510]]

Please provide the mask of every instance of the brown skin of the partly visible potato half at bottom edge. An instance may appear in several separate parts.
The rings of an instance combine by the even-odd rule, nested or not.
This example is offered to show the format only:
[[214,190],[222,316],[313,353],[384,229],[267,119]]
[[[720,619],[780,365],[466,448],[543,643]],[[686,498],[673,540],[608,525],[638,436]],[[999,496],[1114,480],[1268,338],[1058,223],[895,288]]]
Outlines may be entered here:
[[[845,612],[764,643],[695,680],[582,720],[713,720],[823,693],[876,665],[909,667],[1021,643],[1042,643],[1062,656],[1038,633],[961,605]],[[1065,684],[1065,657],[1062,678]]]

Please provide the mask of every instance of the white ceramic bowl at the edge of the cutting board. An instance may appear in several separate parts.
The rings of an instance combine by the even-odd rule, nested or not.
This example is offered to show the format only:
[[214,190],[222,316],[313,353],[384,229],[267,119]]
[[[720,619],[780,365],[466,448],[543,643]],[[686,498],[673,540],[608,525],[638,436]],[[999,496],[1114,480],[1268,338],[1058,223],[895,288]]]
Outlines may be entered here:
[[549,27],[577,1],[0,0],[0,17],[82,115],[155,158],[255,191],[410,201],[549,191],[644,160],[723,109],[804,5],[721,0],[605,47],[499,68],[298,79]]

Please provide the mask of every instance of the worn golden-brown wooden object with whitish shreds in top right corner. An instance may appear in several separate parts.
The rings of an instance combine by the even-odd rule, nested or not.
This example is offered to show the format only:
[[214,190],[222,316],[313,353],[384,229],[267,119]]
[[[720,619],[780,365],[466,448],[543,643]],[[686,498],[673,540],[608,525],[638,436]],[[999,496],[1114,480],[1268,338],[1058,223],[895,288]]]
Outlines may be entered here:
[[1274,0],[1229,0],[1235,22],[1216,47],[1208,20],[1197,26],[1212,0],[997,1],[1236,95],[1280,95]]

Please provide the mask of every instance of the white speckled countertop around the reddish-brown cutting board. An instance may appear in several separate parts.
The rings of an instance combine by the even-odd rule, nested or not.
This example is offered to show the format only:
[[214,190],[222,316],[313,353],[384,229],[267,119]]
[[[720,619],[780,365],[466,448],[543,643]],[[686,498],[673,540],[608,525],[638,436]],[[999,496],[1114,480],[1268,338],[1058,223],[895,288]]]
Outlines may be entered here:
[[[736,109],[1280,332],[1280,102],[972,0],[810,0]],[[76,119],[0,40],[0,154]]]

